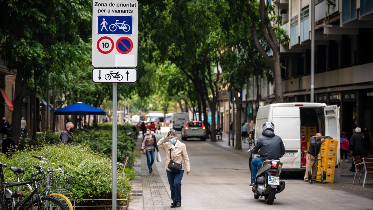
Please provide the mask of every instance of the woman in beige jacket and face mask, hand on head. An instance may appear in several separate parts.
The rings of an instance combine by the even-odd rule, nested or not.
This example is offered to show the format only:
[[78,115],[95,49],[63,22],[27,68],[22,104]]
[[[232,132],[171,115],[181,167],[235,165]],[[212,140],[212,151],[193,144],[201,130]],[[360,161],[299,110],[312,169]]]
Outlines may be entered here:
[[[189,157],[186,153],[185,143],[181,143],[178,140],[178,133],[176,130],[170,130],[166,136],[160,139],[157,143],[159,148],[162,148],[166,151],[166,172],[168,183],[171,188],[171,199],[173,203],[171,208],[180,208],[181,207],[181,179],[183,178],[184,170],[188,175],[190,172],[189,166]],[[173,173],[168,168],[170,162],[170,151],[171,157],[175,163],[182,165],[181,173]]]

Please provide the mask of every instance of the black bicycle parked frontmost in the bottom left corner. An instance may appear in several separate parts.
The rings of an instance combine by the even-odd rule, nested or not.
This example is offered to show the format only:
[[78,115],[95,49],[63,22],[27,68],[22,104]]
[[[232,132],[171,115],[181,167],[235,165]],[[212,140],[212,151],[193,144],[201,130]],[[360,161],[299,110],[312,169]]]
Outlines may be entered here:
[[[7,167],[6,164],[0,163],[0,179],[1,179],[1,186],[0,186],[0,209],[1,210],[67,210],[66,207],[56,198],[53,197],[42,197],[39,193],[40,186],[44,185],[47,182],[45,179],[40,185],[36,182],[36,176],[38,175],[45,175],[44,171],[42,170],[43,167],[34,165],[33,167],[38,170],[37,173],[33,173],[31,175],[32,181],[30,182],[5,182],[3,167]],[[21,173],[25,173],[25,170],[18,167],[10,167],[10,170],[15,173],[17,180],[19,180],[19,176]],[[34,190],[21,202],[17,199],[15,202],[15,198],[20,198],[23,196],[22,192],[16,191],[13,193],[9,193],[7,188],[11,187],[18,187],[23,185],[34,185]]]

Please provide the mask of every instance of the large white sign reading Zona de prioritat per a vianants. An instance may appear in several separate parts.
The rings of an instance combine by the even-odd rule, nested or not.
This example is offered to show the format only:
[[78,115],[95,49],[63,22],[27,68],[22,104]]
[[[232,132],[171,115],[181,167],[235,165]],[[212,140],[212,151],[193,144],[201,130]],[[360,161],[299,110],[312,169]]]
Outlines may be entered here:
[[93,0],[92,65],[136,67],[137,0]]

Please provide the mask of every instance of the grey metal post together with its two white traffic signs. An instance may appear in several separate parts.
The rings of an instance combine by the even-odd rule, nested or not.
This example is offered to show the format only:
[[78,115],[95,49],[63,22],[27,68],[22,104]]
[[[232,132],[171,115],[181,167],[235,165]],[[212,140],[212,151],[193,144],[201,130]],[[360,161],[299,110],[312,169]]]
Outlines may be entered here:
[[[137,81],[137,0],[92,2],[92,80],[113,83],[112,209],[117,194],[117,83]],[[121,67],[121,68],[119,68]],[[128,69],[124,69],[124,68]]]

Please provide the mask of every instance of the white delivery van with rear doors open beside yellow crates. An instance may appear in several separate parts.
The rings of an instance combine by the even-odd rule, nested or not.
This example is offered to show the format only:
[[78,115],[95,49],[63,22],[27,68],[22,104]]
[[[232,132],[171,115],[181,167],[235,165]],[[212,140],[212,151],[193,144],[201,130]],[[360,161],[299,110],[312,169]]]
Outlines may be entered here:
[[[338,140],[336,165],[339,166],[340,131],[337,105],[278,103],[262,106],[258,109],[256,117],[255,142],[262,136],[262,126],[266,121],[271,121],[275,124],[275,134],[280,136],[285,144],[285,155],[280,158],[283,163],[282,171],[305,170],[305,153],[301,149],[301,126],[316,127],[315,133],[321,133],[323,136],[330,136]],[[249,161],[250,170],[252,158],[253,156],[250,157]]]

